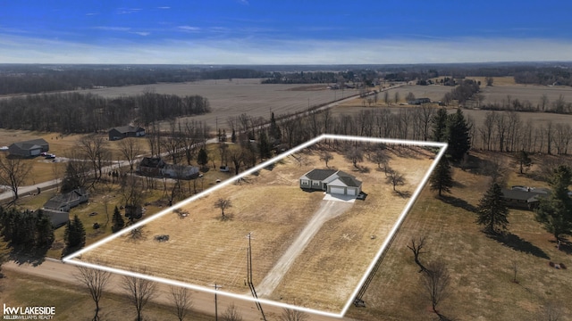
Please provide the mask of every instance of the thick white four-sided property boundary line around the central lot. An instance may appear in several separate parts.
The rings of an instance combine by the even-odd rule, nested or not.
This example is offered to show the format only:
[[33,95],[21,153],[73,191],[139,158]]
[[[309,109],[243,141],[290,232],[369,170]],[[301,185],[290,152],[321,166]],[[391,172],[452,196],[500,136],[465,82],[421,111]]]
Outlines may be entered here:
[[[118,269],[118,268],[109,268],[109,267],[105,267],[105,266],[101,266],[101,265],[97,265],[97,264],[92,264],[92,263],[88,263],[88,262],[83,262],[81,260],[78,260],[76,258],[81,257],[81,254],[87,252],[87,251],[91,251],[96,249],[97,247],[99,247],[100,245],[103,245],[105,243],[111,242],[113,241],[115,238],[121,236],[121,235],[125,235],[127,233],[129,233],[131,230],[139,227],[139,226],[143,226],[146,225],[147,223],[151,222],[152,220],[156,219],[156,218],[160,218],[168,213],[172,213],[173,210],[177,210],[179,208],[181,208],[182,206],[187,205],[189,202],[193,202],[203,196],[205,196],[208,193],[212,193],[220,188],[223,188],[226,185],[229,185],[231,183],[234,183],[235,181],[237,181],[238,179],[242,178],[242,177],[246,177],[254,172],[257,172],[258,170],[264,169],[266,166],[271,165],[273,163],[275,163],[276,161],[280,161],[283,158],[286,158],[288,156],[290,156],[293,153],[299,152],[300,150],[307,148],[310,145],[316,144],[324,139],[333,139],[333,140],[343,140],[343,141],[355,141],[355,142],[368,142],[368,143],[378,143],[378,144],[408,144],[408,145],[416,145],[416,146],[430,146],[430,147],[439,147],[441,148],[440,152],[437,153],[437,156],[435,157],[433,163],[431,164],[431,166],[429,167],[429,169],[427,170],[427,172],[425,173],[425,177],[423,177],[423,180],[421,181],[421,183],[417,186],[415,193],[413,193],[413,195],[411,196],[411,198],[409,199],[409,202],[407,203],[405,209],[401,212],[400,217],[398,218],[398,220],[395,222],[395,224],[393,225],[393,227],[391,228],[391,232],[390,234],[385,238],[385,241],[382,244],[382,247],[380,248],[380,250],[377,252],[377,254],[375,255],[374,259],[372,260],[372,262],[369,265],[369,268],[367,268],[366,273],[364,274],[364,276],[361,278],[361,280],[359,281],[359,284],[357,284],[356,290],[354,292],[352,292],[351,296],[349,297],[348,302],[346,303],[346,305],[344,306],[344,308],[341,310],[341,313],[339,314],[335,314],[335,313],[331,313],[331,312],[324,312],[324,311],[320,311],[320,310],[315,310],[315,309],[307,309],[307,308],[303,308],[303,307],[298,307],[298,306],[292,306],[289,304],[285,304],[285,303],[280,303],[280,302],[276,302],[273,300],[266,300],[266,299],[254,299],[254,298],[250,298],[247,295],[243,295],[243,294],[235,294],[235,293],[231,293],[231,292],[221,292],[221,291],[215,291],[213,289],[210,289],[206,286],[198,286],[198,285],[194,285],[194,284],[186,284],[186,283],[182,283],[179,281],[173,281],[170,279],[166,279],[163,277],[157,277],[157,276],[147,276],[147,275],[143,275],[137,272],[131,272],[131,271],[126,271],[126,270],[122,270],[122,269]],[[390,242],[391,242],[391,238],[393,238],[393,236],[397,233],[397,231],[399,230],[401,224],[403,223],[403,220],[406,218],[408,211],[411,209],[411,207],[413,206],[413,204],[416,202],[417,196],[419,195],[419,193],[421,193],[421,190],[423,189],[423,187],[425,186],[425,184],[427,183],[427,180],[429,179],[429,177],[431,176],[431,173],[433,172],[433,169],[435,168],[435,166],[437,166],[437,163],[441,160],[443,154],[445,153],[447,149],[447,144],[445,143],[435,143],[435,142],[419,142],[419,141],[408,141],[408,140],[400,140],[400,139],[385,139],[385,138],[373,138],[373,137],[363,137],[363,136],[339,136],[339,135],[329,135],[329,134],[324,134],[321,136],[317,136],[314,139],[304,143],[304,144],[300,144],[299,146],[294,147],[293,149],[284,152],[282,154],[280,154],[277,157],[274,157],[271,160],[265,161],[262,164],[259,164],[258,166],[252,168],[252,169],[248,169],[247,171],[241,173],[238,176],[232,177],[226,181],[224,181],[223,183],[219,184],[219,185],[214,185],[211,188],[206,189],[206,191],[203,191],[201,193],[198,193],[192,197],[189,197],[188,199],[182,201],[182,202],[178,202],[175,205],[173,205],[170,208],[167,208],[165,210],[160,211],[159,213],[157,213],[156,215],[150,217],[150,218],[146,218],[142,221],[140,221],[137,224],[134,224],[132,226],[129,226],[127,228],[122,229],[122,231],[115,233],[114,235],[110,235],[109,237],[106,237],[103,240],[98,241],[97,243],[93,243],[91,245],[89,245],[88,247],[80,250],[80,251],[76,251],[74,253],[71,253],[70,255],[66,256],[65,258],[63,258],[63,262],[65,263],[71,263],[74,265],[78,265],[78,266],[83,266],[83,267],[88,267],[88,268],[97,268],[97,269],[101,269],[101,270],[105,270],[105,271],[109,271],[118,275],[122,275],[122,276],[135,276],[135,277],[139,277],[139,278],[144,278],[147,280],[151,280],[151,281],[155,281],[155,282],[160,282],[163,284],[170,284],[170,285],[175,285],[175,286],[181,286],[181,287],[185,287],[185,288],[189,288],[192,290],[198,290],[198,291],[202,291],[202,292],[210,292],[210,293],[215,293],[219,294],[219,295],[224,295],[224,296],[228,296],[231,298],[235,298],[235,299],[240,299],[240,300],[250,300],[250,301],[258,301],[260,303],[264,303],[264,304],[269,304],[269,305],[273,305],[276,307],[280,307],[280,308],[285,308],[285,309],[299,309],[300,311],[305,311],[308,313],[313,313],[313,314],[317,314],[317,315],[322,315],[322,316],[326,316],[326,317],[338,317],[341,318],[343,317],[346,312],[349,309],[349,306],[351,305],[351,303],[353,302],[354,298],[357,295],[357,292],[359,292],[359,290],[361,289],[362,285],[366,282],[367,276],[369,276],[369,274],[371,273],[372,269],[375,266],[375,263],[377,262],[378,259],[380,259],[380,257],[382,256],[383,252],[386,250],[386,248],[389,246]]]

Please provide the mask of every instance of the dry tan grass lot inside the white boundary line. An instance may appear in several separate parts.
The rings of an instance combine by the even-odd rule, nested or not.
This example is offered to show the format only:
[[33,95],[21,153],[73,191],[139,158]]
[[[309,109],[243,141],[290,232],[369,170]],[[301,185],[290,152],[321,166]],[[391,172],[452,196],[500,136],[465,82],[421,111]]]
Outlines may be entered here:
[[[332,313],[341,311],[433,161],[433,154],[418,148],[388,151],[391,168],[406,177],[406,185],[398,186],[400,193],[392,192],[377,165],[365,161],[360,167],[367,169],[355,172],[350,162],[334,154],[329,166],[352,172],[362,180],[366,201],[357,201],[340,217],[326,222],[265,299]],[[307,161],[299,166],[289,156],[272,170],[262,169],[240,184],[226,185],[189,203],[182,208],[188,212],[186,217],[167,213],[143,226],[143,237],[121,235],[82,253],[81,260],[102,261],[124,270],[145,266],[152,276],[203,287],[215,282],[223,284],[222,291],[248,293],[244,281],[246,235],[253,235],[253,281],[257,285],[307,225],[324,197],[324,193],[299,189],[300,176],[310,169],[324,168],[317,152],[310,150],[305,157]],[[232,207],[225,210],[231,219],[220,219],[220,210],[214,208],[219,198],[231,199]],[[156,242],[156,235],[169,235],[169,241]],[[321,284],[328,284],[327,289]]]

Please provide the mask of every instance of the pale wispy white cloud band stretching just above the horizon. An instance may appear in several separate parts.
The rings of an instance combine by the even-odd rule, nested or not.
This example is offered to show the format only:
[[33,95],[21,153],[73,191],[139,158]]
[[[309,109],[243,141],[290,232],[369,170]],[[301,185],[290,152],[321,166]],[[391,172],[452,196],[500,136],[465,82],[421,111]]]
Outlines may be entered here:
[[6,63],[381,64],[569,61],[572,41],[477,37],[345,41],[236,38],[162,39],[152,44],[147,40],[117,40],[109,45],[88,45],[0,34],[0,47],[0,61]]

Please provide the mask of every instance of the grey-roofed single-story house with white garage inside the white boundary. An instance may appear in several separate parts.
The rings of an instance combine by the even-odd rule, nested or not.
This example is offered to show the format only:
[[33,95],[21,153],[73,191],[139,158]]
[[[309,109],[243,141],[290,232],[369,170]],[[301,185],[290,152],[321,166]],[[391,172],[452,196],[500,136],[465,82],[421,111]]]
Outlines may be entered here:
[[299,182],[304,190],[356,196],[361,193],[361,182],[341,170],[312,169],[300,177]]

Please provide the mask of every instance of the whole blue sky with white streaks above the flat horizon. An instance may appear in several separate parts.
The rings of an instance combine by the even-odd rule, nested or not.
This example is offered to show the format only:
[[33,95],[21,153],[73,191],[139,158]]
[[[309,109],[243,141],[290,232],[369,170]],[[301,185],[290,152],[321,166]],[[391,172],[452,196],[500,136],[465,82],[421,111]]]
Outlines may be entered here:
[[572,2],[0,0],[0,63],[572,61]]

